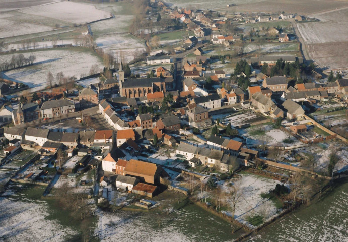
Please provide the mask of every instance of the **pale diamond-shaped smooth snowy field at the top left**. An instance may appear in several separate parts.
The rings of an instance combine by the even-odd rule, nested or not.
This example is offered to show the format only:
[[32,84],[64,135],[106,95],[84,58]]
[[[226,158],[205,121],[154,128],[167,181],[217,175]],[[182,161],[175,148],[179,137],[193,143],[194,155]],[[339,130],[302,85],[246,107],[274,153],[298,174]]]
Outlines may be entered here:
[[109,12],[96,9],[94,6],[67,1],[30,7],[19,11],[26,14],[39,15],[76,24],[84,24],[86,22],[110,17]]

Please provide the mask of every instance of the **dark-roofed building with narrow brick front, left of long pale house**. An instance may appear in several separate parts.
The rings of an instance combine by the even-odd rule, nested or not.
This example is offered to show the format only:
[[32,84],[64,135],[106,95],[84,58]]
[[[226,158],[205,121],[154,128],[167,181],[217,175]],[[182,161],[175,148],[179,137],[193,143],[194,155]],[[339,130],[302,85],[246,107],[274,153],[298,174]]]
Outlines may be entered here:
[[19,104],[18,109],[13,110],[12,120],[15,125],[24,124],[40,119],[40,108],[36,103]]

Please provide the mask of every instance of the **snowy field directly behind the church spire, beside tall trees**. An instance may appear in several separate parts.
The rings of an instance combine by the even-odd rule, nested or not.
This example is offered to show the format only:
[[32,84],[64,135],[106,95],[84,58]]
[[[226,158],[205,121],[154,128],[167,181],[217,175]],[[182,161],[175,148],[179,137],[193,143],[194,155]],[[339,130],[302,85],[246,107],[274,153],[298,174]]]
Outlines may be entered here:
[[144,41],[131,34],[111,34],[97,37],[95,40],[99,48],[104,51],[114,51],[124,56],[126,62],[134,59],[136,52],[138,56],[145,50]]

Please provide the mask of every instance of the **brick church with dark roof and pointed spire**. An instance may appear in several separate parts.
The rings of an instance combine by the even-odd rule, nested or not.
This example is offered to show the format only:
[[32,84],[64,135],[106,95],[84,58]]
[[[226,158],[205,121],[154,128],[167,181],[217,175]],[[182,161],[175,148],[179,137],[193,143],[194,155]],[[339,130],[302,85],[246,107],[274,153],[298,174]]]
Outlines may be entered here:
[[166,81],[164,78],[136,78],[125,79],[122,63],[118,71],[120,96],[126,98],[145,97],[147,93],[166,92]]

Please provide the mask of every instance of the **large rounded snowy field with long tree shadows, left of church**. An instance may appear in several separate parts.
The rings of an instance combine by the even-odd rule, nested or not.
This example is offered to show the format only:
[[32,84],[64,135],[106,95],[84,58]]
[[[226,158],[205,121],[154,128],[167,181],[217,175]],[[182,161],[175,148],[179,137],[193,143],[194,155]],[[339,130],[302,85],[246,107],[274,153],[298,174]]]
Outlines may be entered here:
[[[25,57],[30,54],[36,56],[34,65],[7,71],[3,73],[3,76],[12,81],[25,83],[32,88],[32,91],[37,91],[49,85],[47,83],[49,71],[54,77],[57,73],[63,72],[65,76],[75,76],[79,79],[89,75],[92,65],[103,68],[102,62],[97,56],[81,50],[46,50],[24,53]],[[11,56],[10,54],[0,56],[0,61],[10,62]]]

